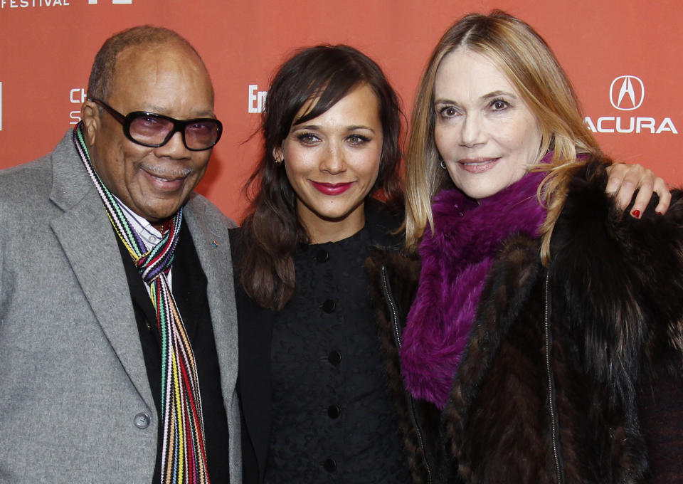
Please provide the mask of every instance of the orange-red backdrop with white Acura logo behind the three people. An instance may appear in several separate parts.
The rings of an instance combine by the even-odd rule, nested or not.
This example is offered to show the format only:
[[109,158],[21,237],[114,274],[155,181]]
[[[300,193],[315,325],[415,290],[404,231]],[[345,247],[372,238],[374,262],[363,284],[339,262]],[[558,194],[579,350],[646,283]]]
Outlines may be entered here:
[[297,48],[347,43],[385,70],[409,118],[443,31],[503,9],[534,26],[573,81],[605,152],[683,184],[683,10],[677,1],[0,0],[0,169],[50,152],[80,119],[102,42],[149,23],[193,43],[224,134],[198,191],[240,220],[272,73]]

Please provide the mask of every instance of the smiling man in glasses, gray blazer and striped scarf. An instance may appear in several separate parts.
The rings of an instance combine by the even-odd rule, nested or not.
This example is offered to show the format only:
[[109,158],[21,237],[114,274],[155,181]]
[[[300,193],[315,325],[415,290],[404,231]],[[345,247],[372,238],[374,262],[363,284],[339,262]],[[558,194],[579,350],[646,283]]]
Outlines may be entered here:
[[0,482],[238,483],[232,224],[193,192],[221,136],[206,67],[123,31],[82,115],[0,172]]

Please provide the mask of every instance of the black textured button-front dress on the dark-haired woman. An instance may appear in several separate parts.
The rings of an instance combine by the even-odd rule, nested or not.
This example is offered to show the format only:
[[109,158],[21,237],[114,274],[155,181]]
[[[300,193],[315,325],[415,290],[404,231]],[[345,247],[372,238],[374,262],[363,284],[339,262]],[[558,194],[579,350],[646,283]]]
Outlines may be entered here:
[[407,483],[364,260],[369,231],[295,253],[272,332],[265,483]]

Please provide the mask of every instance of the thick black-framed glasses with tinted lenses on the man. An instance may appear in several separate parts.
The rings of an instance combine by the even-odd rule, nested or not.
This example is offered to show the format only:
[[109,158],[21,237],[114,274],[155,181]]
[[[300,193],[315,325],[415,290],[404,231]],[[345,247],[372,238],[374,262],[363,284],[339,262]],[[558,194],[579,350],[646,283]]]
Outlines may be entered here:
[[105,102],[90,98],[107,110],[123,125],[123,133],[134,143],[157,148],[164,146],[176,132],[183,135],[185,147],[191,151],[211,148],[221,139],[223,125],[213,117],[197,117],[193,120],[174,120],[156,112],[133,111],[122,115]]

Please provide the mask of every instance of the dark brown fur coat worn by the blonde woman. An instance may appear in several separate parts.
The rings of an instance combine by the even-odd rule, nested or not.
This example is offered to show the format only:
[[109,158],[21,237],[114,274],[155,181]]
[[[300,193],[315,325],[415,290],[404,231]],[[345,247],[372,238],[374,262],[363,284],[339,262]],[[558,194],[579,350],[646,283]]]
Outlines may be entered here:
[[[652,202],[637,221],[615,209],[604,193],[606,178],[601,159],[576,174],[551,242],[549,356],[567,483],[645,482],[652,429],[641,428],[640,396],[662,388],[654,384],[658,378],[667,388],[683,386],[682,194],[674,191],[665,216],[654,214]],[[402,318],[418,268],[391,258],[376,267],[381,264],[392,275]],[[417,402],[426,446],[419,445],[411,421],[403,422],[415,482],[426,480],[423,451],[432,459],[432,482],[556,482],[545,372],[545,274],[534,236],[518,234],[504,243],[441,416],[441,440],[430,425],[429,405]],[[380,318],[391,327],[380,291],[376,297]],[[393,359],[396,365],[395,351]],[[428,378],[434,367],[426,365]],[[396,367],[392,374],[397,377]],[[440,378],[440,369],[434,376]],[[400,381],[396,385],[401,388]],[[665,425],[676,428],[682,411],[670,405],[667,411]],[[674,459],[682,447],[680,437],[669,446]],[[680,468],[676,461],[673,474],[660,474],[658,482],[683,480]]]

